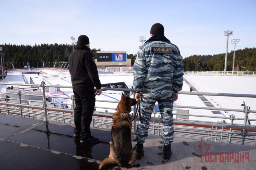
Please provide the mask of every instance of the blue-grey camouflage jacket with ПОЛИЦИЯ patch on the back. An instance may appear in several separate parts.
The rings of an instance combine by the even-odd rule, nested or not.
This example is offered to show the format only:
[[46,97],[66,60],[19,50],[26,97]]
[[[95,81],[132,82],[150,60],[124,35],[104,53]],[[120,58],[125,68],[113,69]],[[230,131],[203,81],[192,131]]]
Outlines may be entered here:
[[168,84],[174,93],[182,89],[182,57],[179,48],[163,35],[153,36],[139,48],[133,65],[133,89],[146,92]]

